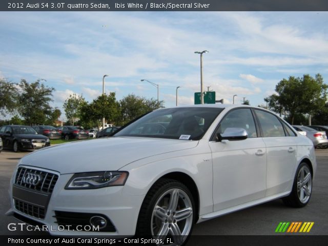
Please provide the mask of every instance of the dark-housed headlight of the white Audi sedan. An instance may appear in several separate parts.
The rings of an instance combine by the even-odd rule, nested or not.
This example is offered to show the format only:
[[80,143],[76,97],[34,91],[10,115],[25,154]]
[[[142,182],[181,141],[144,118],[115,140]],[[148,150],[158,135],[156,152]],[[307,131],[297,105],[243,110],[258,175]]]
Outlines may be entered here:
[[65,189],[98,189],[109,186],[124,186],[128,172],[75,173]]

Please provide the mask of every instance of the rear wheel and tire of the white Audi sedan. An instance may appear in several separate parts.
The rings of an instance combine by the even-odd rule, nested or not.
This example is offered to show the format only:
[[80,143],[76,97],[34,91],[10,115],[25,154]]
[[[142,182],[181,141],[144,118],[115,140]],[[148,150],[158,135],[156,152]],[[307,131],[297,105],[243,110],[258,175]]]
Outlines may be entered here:
[[292,192],[284,197],[286,205],[302,208],[308,204],[312,194],[312,173],[308,163],[302,162],[297,168]]

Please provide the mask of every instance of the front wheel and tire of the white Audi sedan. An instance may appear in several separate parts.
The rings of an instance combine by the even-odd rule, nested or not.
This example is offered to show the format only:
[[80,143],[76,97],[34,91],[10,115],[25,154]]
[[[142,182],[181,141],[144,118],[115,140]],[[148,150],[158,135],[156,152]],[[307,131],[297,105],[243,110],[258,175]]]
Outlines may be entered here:
[[142,203],[137,236],[152,236],[158,244],[183,245],[191,235],[195,204],[189,189],[174,179],[158,180]]

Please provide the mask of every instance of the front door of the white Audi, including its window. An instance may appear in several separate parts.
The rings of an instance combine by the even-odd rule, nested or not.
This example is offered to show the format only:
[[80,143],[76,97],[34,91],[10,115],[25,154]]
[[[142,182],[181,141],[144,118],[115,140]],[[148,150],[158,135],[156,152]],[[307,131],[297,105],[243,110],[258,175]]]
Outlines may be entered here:
[[227,128],[243,128],[245,140],[210,141],[213,158],[214,211],[237,206],[265,196],[267,153],[249,108],[230,111],[216,133]]

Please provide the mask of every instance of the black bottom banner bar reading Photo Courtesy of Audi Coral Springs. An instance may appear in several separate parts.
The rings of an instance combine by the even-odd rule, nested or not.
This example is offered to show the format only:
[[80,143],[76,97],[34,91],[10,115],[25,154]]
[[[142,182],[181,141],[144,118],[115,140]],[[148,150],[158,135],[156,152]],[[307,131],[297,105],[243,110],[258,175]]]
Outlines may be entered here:
[[[52,236],[0,236],[1,245],[115,245],[115,246],[151,246],[156,245],[152,237],[52,237]],[[167,239],[171,240],[171,239]],[[328,236],[191,236],[186,246],[325,246],[328,243]],[[165,242],[163,245],[166,245]]]

